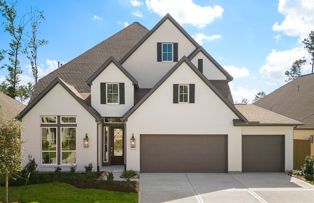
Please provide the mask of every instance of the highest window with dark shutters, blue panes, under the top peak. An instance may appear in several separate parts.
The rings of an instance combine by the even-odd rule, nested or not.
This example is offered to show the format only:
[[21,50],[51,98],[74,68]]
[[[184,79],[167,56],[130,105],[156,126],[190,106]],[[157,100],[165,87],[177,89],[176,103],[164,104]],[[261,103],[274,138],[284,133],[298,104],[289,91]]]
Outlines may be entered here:
[[157,61],[178,62],[178,43],[157,43]]

